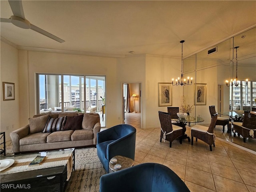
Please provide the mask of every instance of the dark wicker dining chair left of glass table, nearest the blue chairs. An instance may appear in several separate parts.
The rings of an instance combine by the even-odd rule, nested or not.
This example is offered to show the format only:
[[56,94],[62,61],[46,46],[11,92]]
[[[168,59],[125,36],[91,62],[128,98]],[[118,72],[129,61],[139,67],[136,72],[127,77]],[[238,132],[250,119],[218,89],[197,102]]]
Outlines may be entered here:
[[182,130],[183,128],[177,125],[172,124],[171,114],[158,111],[159,120],[161,124],[161,134],[160,134],[160,142],[162,142],[162,138],[170,142],[170,147],[172,147],[172,141],[176,138],[180,137],[180,144],[182,144]]

